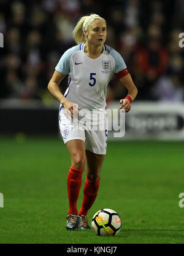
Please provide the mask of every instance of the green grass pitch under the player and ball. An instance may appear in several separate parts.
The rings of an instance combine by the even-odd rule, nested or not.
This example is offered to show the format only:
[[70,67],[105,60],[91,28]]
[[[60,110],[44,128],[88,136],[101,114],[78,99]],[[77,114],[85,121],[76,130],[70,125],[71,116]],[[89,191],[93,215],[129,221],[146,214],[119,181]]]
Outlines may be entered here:
[[[183,243],[184,142],[108,142],[98,197],[88,212],[116,210],[117,236],[66,231],[71,165],[58,137],[0,138],[0,243]],[[78,208],[83,196],[83,183]]]

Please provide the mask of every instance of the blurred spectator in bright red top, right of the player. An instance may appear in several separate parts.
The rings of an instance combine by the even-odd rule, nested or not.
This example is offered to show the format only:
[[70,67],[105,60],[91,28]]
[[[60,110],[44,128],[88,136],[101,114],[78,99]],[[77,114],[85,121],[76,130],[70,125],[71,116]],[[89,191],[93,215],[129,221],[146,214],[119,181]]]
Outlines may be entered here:
[[[161,44],[161,31],[159,27],[148,27],[148,39],[146,45],[137,50],[135,57],[136,77],[144,98],[151,99],[150,89],[156,79],[167,70],[169,54]],[[138,87],[139,87],[138,86]]]

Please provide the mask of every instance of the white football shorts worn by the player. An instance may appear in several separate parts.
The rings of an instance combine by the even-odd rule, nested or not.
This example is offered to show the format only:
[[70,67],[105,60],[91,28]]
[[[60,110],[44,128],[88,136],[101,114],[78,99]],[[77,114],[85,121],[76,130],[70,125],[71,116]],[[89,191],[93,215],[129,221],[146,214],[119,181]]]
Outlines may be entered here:
[[[79,110],[82,113],[82,110]],[[92,115],[91,115],[92,116]],[[95,154],[106,154],[107,148],[107,114],[103,113],[103,118],[100,118],[103,122],[99,123],[99,118],[89,118],[79,117],[71,118],[68,114],[66,117],[66,112],[64,108],[59,111],[59,129],[63,137],[64,144],[69,142],[69,140],[83,140],[85,142],[85,150],[89,150]],[[90,121],[90,123],[88,122]]]

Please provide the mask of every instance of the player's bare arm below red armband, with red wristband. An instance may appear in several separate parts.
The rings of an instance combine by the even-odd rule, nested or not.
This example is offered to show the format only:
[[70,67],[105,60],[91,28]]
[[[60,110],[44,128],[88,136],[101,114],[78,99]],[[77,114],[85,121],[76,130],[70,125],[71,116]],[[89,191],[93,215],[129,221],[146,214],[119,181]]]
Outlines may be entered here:
[[131,103],[136,98],[138,90],[129,73],[120,78],[120,82],[128,89],[128,95],[120,100],[120,110],[124,108],[125,112],[128,112],[131,110]]

